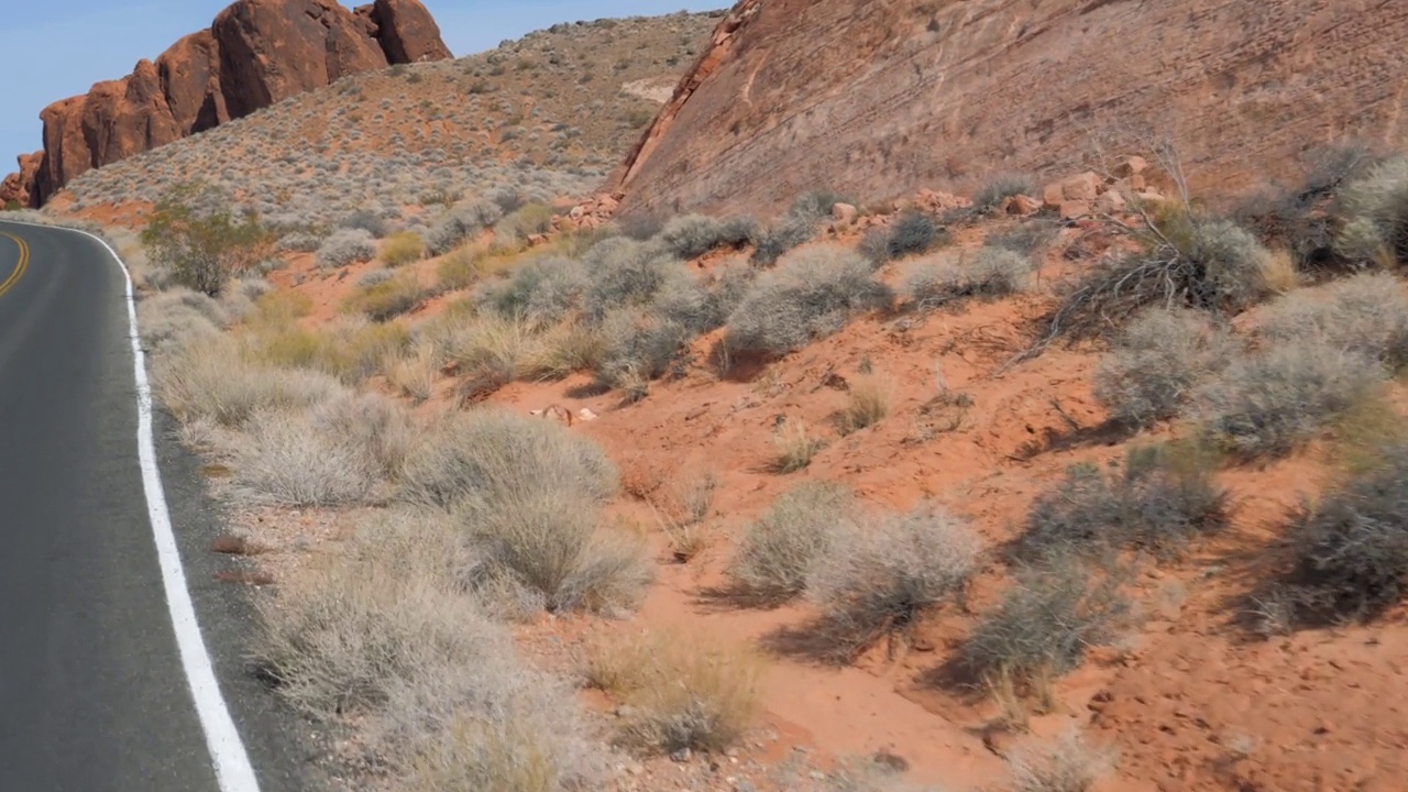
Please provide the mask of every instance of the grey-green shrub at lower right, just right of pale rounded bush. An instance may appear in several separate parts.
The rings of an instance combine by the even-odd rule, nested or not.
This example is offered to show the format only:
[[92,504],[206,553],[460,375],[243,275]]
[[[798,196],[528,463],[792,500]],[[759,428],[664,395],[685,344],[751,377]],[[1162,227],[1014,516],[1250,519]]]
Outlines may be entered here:
[[1129,606],[1118,576],[1074,555],[1050,555],[1017,569],[1001,602],[973,627],[962,660],[994,691],[1045,696],[1086,650],[1118,636]]

